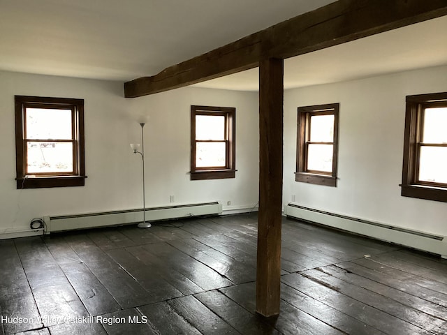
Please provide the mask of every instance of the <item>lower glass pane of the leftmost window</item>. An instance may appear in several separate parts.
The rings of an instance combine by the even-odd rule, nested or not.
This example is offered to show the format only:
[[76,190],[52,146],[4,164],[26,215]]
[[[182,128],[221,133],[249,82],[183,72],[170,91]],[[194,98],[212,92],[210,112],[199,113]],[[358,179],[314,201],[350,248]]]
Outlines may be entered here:
[[27,174],[73,172],[73,144],[28,142]]

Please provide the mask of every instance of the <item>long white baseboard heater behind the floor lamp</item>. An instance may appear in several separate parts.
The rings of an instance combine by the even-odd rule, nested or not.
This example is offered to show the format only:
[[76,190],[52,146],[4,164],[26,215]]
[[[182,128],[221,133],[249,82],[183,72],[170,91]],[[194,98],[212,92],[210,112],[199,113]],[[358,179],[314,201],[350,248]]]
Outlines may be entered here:
[[[145,218],[146,221],[161,221],[170,218],[221,214],[221,212],[222,205],[219,204],[219,202],[179,204],[166,207],[147,207],[145,209]],[[64,216],[44,216],[43,218],[45,221],[45,234],[50,234],[50,232],[61,232],[64,230],[125,225],[141,222],[142,219],[142,208]]]

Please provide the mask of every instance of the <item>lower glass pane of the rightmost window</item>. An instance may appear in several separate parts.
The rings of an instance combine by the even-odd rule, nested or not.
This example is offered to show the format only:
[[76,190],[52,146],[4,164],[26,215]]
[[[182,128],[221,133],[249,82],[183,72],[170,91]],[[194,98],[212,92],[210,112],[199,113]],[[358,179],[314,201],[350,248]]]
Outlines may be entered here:
[[420,147],[419,180],[447,184],[447,147]]

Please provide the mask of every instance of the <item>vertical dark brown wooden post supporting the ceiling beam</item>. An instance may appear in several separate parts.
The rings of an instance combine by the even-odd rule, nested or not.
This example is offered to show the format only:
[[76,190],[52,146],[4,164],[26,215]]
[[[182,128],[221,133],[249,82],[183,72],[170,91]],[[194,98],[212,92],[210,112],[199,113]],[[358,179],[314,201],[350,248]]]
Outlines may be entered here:
[[284,61],[259,64],[259,212],[256,312],[279,314],[283,174]]

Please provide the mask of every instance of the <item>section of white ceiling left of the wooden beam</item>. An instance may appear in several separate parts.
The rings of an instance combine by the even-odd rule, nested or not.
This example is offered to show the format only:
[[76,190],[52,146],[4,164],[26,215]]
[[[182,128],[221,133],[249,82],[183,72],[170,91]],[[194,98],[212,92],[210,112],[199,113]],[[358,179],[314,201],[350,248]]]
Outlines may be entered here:
[[334,0],[0,0],[0,70],[132,80]]

